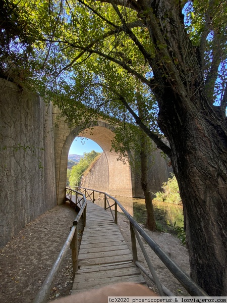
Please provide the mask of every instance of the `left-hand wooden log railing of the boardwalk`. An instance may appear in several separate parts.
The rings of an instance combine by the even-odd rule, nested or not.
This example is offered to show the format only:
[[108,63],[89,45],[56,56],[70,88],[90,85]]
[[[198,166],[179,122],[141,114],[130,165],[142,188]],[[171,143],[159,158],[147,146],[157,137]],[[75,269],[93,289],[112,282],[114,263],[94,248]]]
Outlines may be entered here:
[[[69,188],[67,188],[69,189]],[[48,300],[49,293],[51,291],[51,288],[54,284],[55,278],[58,275],[59,269],[61,267],[61,264],[64,260],[64,257],[67,253],[67,250],[69,247],[72,249],[72,258],[73,258],[73,274],[75,275],[75,272],[77,271],[78,266],[78,240],[77,240],[77,224],[84,213],[84,226],[86,225],[86,207],[87,207],[87,200],[84,194],[80,193],[79,191],[70,189],[73,192],[76,192],[79,195],[82,195],[83,199],[83,205],[77,214],[75,220],[73,221],[73,227],[70,230],[70,233],[58,255],[56,258],[53,266],[51,267],[47,277],[45,278],[44,282],[42,283],[41,288],[39,289],[39,292],[37,293],[33,303],[45,303]],[[72,192],[71,192],[72,194]],[[71,195],[72,196],[72,195]],[[77,204],[77,200],[76,200]]]

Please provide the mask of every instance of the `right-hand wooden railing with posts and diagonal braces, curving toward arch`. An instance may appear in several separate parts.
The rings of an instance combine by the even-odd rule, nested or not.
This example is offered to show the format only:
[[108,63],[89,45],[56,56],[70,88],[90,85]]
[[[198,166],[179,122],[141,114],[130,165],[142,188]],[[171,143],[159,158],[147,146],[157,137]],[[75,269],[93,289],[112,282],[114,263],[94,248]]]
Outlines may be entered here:
[[[94,189],[89,189],[85,187],[76,187],[78,191],[83,193],[86,199],[90,199],[93,203],[98,199],[95,199],[95,193],[104,196],[104,209],[109,209],[113,220],[116,224],[118,224],[118,212],[117,207],[119,207],[125,216],[128,218],[130,222],[130,232],[131,232],[131,241],[132,241],[132,254],[133,261],[137,265],[137,267],[153,282],[156,284],[159,294],[164,296],[175,296],[171,291],[169,291],[164,285],[162,285],[158,279],[158,276],[152,266],[152,263],[147,255],[146,249],[141,241],[141,237],[145,240],[145,242],[151,247],[151,249],[155,252],[158,258],[164,263],[164,265],[168,268],[168,270],[175,276],[175,278],[181,283],[181,285],[193,296],[208,296],[207,293],[198,286],[171,258],[169,258],[165,252],[161,249],[161,247],[154,241],[152,238],[143,230],[143,228],[134,220],[134,218],[125,210],[125,208],[120,204],[120,202],[111,195],[107,194],[103,191],[98,191]],[[110,205],[109,201],[112,200],[113,204]],[[106,207],[106,203],[108,207]],[[114,213],[111,208],[114,206]],[[144,258],[147,262],[150,273],[142,266],[140,262],[138,262],[137,258],[137,244],[136,239],[140,245],[140,248],[143,252]]]

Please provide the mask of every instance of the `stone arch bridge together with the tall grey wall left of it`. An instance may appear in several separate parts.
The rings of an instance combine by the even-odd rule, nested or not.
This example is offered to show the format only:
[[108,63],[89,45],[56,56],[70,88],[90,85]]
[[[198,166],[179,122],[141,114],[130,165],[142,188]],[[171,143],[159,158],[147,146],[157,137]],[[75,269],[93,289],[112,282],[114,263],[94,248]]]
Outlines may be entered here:
[[[112,195],[142,196],[140,180],[110,153],[113,138],[105,121],[96,121],[93,135],[69,128],[59,110],[38,93],[0,78],[0,247],[26,224],[64,202],[67,159],[76,136],[97,142],[104,153],[84,185]],[[149,171],[150,190],[160,190],[168,167],[158,151]]]

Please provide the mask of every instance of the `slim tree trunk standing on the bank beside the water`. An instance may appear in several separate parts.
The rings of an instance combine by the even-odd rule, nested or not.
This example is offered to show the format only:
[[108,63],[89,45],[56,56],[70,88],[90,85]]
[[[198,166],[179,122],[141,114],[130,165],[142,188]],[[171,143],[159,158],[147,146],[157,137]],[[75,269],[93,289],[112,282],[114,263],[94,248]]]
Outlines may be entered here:
[[150,191],[147,187],[148,184],[148,162],[147,162],[147,147],[146,147],[146,134],[141,132],[141,138],[140,138],[140,160],[141,160],[141,187],[143,189],[144,199],[145,199],[145,205],[147,210],[147,219],[145,227],[148,230],[155,231],[156,230],[156,224],[155,224],[155,217],[154,217],[154,208],[152,204],[152,198]]

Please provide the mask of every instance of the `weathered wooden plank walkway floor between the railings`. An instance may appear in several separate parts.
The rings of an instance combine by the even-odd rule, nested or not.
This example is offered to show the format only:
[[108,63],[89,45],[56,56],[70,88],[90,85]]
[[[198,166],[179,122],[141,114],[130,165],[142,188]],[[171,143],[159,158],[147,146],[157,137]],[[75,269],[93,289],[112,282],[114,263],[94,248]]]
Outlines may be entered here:
[[119,282],[145,284],[111,214],[90,201],[78,259],[72,293]]

